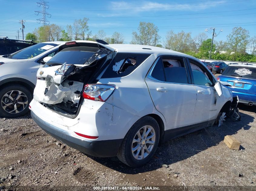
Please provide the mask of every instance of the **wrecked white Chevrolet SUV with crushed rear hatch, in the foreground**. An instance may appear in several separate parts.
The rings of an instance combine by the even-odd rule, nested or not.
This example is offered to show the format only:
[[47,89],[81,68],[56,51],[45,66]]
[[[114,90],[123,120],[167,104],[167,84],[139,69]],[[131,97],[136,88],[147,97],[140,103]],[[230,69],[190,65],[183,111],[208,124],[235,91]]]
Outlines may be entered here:
[[80,40],[59,50],[37,72],[32,118],[72,148],[131,167],[147,163],[161,142],[213,125],[233,99],[183,53]]

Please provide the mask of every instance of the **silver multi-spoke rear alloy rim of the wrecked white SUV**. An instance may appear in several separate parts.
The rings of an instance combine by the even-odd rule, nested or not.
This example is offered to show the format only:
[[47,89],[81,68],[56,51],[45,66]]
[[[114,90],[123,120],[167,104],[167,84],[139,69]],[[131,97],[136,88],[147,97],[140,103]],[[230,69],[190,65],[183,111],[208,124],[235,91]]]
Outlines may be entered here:
[[141,160],[146,158],[152,151],[155,145],[155,130],[152,126],[143,126],[135,134],[132,145],[131,152],[135,159]]

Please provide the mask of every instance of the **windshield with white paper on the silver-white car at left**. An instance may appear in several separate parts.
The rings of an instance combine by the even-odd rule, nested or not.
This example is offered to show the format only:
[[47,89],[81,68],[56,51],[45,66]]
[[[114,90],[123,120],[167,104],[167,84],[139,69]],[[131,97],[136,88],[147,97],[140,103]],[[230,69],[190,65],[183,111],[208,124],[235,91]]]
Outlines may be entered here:
[[55,46],[58,46],[58,44],[53,43],[39,43],[35,44],[33,46],[29,46],[28,48],[25,48],[19,52],[16,52],[12,54],[11,56],[8,56],[7,58],[11,59],[30,59],[35,56],[38,56],[39,54],[42,54],[46,50],[49,50]]

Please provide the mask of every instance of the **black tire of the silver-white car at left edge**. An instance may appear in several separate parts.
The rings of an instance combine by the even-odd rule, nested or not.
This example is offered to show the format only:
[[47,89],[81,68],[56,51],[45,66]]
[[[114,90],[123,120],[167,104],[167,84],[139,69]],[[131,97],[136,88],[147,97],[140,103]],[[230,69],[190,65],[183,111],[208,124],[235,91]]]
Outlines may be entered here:
[[[7,94],[10,91],[14,91],[12,96],[14,96],[13,99],[16,102],[13,102],[13,104],[11,104],[10,106],[5,107],[6,106],[5,103],[11,103],[13,101],[11,99],[8,99],[8,97],[5,96],[5,94]],[[22,92],[22,94],[21,94],[22,96],[20,96],[18,98],[18,96],[17,96],[18,94],[16,94],[16,97],[15,97],[15,91]],[[16,98],[18,98],[18,100],[16,100]],[[32,93],[22,85],[10,85],[10,86],[6,86],[6,87],[2,88],[0,90],[0,102],[1,102],[0,115],[3,117],[8,117],[8,118],[24,116],[29,111],[29,103],[32,101],[32,98],[33,98]],[[17,102],[19,102],[19,103],[23,102],[24,104],[22,105]],[[12,110],[14,110],[14,108],[12,108],[12,107],[14,107],[15,103],[16,103],[16,108],[18,108],[18,110],[17,110],[18,113],[15,113],[16,111],[11,112]]]

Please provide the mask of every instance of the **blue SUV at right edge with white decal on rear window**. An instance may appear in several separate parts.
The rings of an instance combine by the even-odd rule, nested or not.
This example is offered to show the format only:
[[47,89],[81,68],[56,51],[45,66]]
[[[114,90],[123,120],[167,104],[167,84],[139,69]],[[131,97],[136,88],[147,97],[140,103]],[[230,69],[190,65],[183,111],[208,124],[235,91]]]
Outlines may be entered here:
[[231,89],[234,96],[238,96],[239,103],[247,105],[256,105],[256,66],[232,64],[229,65],[218,81],[225,81],[232,86]]

